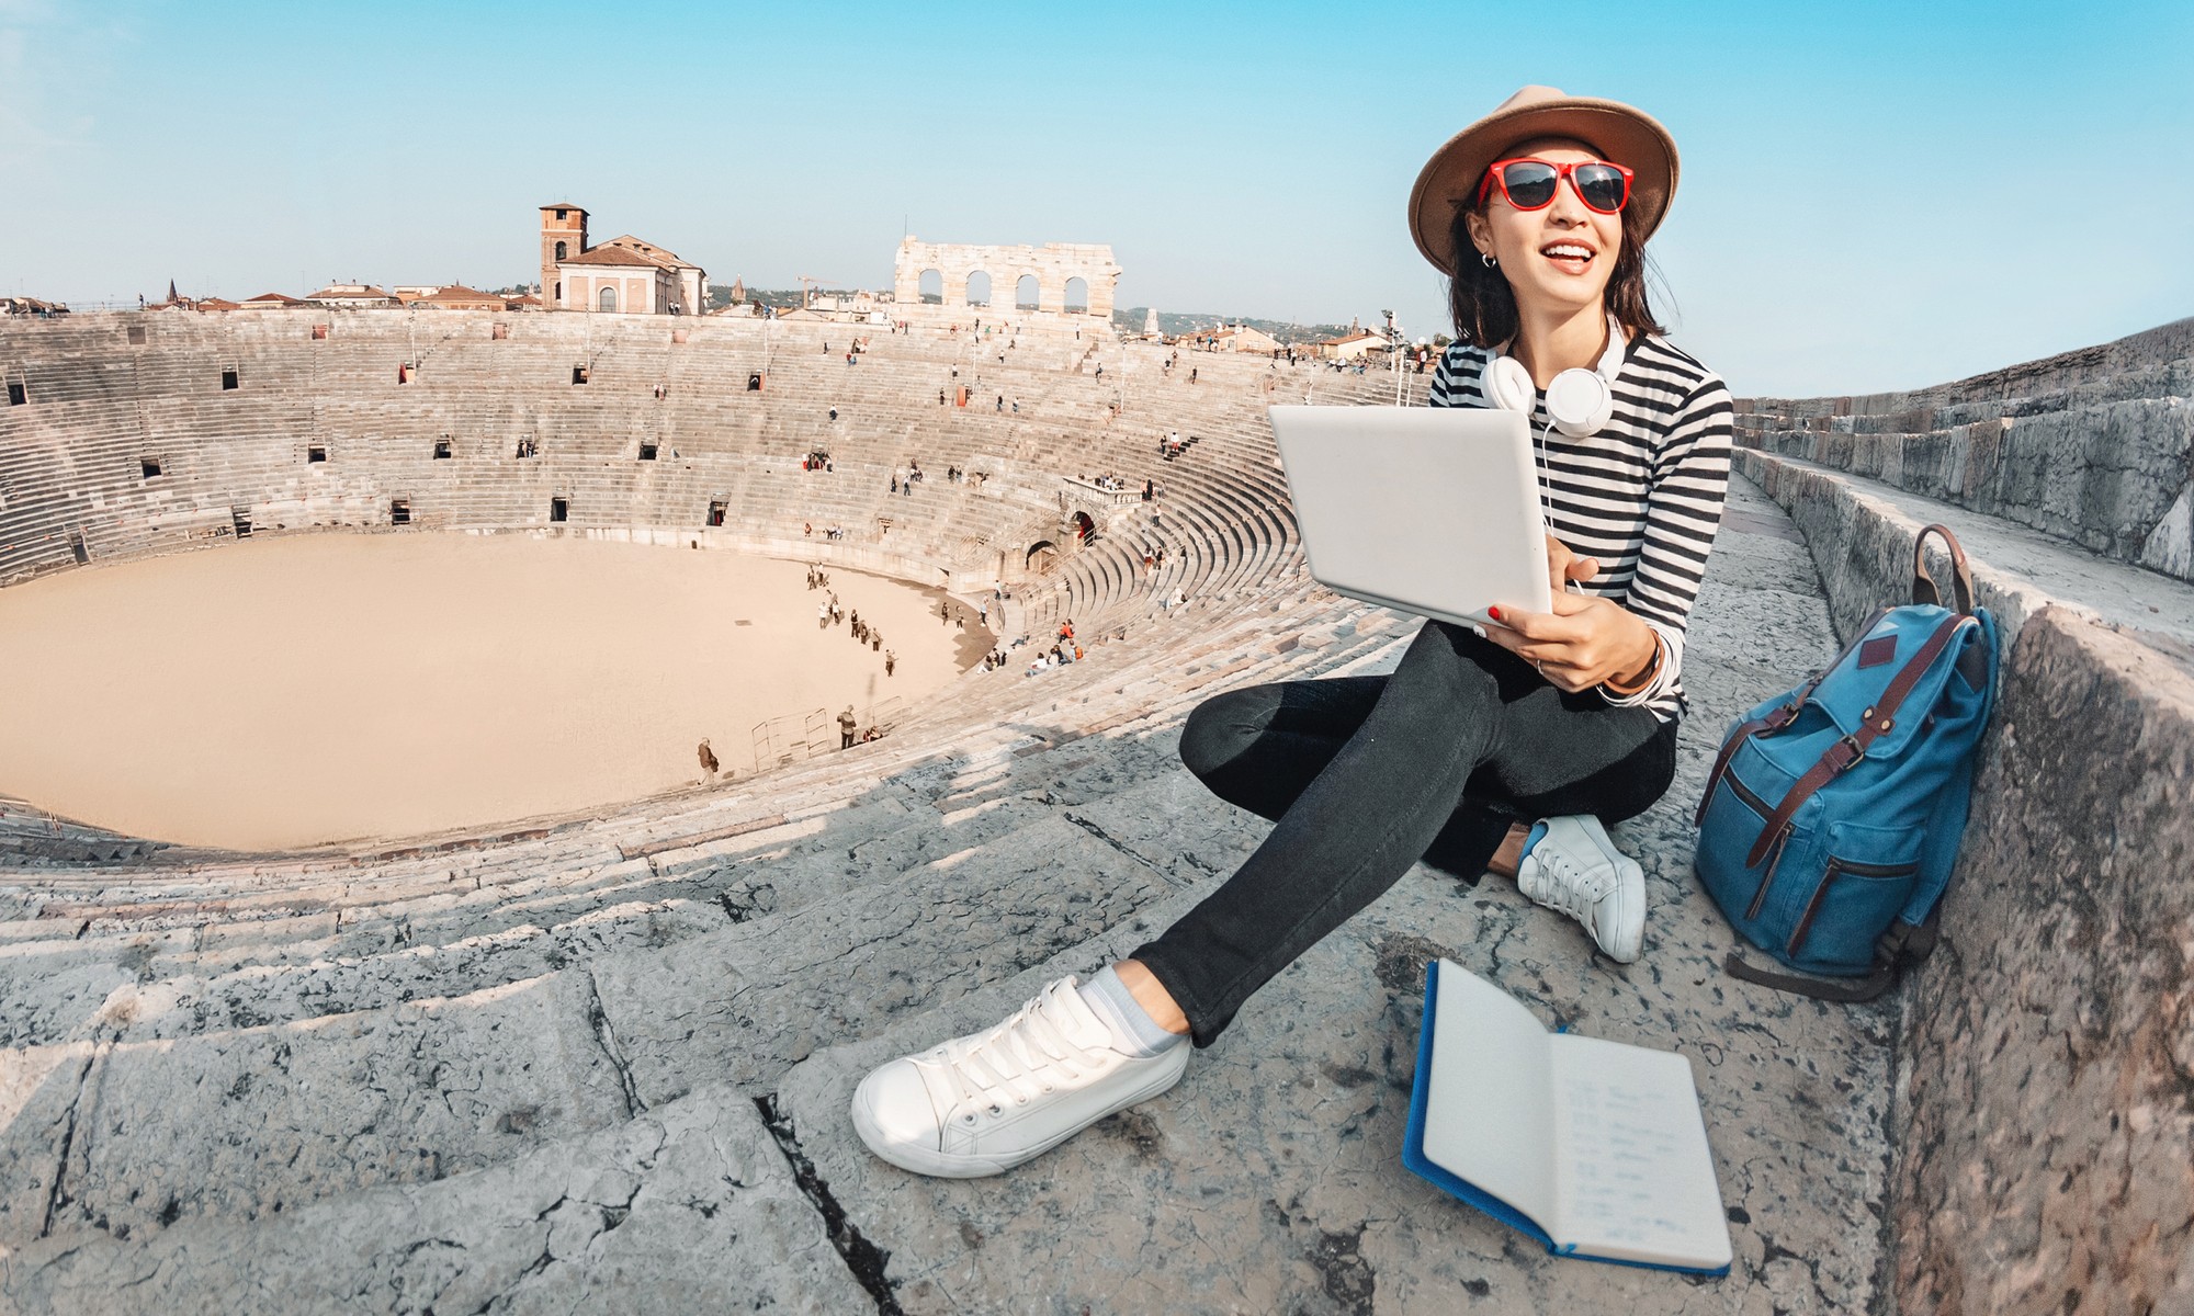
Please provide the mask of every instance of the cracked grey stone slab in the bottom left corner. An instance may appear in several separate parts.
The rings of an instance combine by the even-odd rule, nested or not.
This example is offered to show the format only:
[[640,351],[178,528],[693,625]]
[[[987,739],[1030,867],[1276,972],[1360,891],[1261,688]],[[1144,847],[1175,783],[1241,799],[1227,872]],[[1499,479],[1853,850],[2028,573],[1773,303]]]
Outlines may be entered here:
[[24,1316],[867,1312],[755,1105],[713,1088],[434,1184],[0,1250]]

